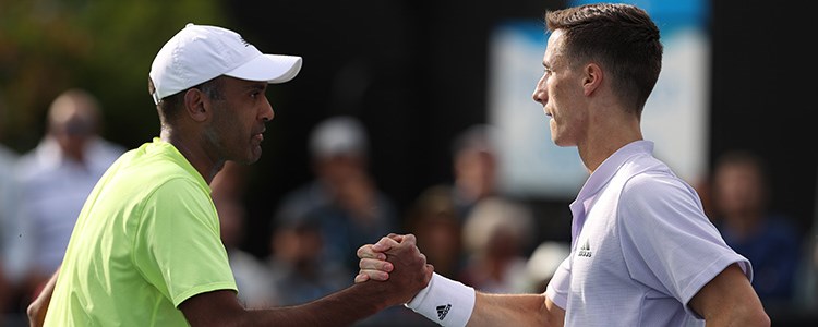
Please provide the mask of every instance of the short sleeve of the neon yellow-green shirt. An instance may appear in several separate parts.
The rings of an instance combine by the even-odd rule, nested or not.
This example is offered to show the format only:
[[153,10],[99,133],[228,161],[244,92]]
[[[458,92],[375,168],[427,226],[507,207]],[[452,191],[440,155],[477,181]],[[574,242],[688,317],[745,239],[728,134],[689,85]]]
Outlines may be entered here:
[[160,186],[140,223],[134,262],[175,306],[203,292],[237,290],[215,206],[194,182]]

